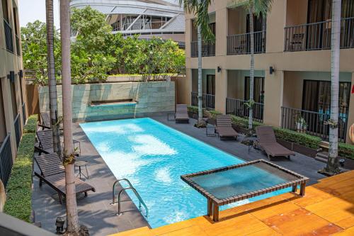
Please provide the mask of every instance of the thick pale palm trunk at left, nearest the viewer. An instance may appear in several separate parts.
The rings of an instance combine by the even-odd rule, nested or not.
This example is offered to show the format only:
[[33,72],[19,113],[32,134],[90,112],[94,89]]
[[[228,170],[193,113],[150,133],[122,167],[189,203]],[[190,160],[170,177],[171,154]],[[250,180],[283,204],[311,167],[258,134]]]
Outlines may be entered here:
[[[64,162],[66,157],[74,153],[72,144],[72,79],[70,69],[70,13],[69,0],[60,1],[60,39],[62,42],[62,94],[64,118]],[[79,232],[79,216],[77,214],[74,162],[65,164],[65,185],[67,188],[67,232]]]

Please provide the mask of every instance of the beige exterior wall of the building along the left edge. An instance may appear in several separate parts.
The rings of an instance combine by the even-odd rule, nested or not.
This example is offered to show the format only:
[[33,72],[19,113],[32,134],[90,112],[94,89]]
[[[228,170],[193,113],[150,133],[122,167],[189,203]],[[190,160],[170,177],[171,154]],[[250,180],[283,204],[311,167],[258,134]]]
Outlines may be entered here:
[[[15,136],[15,127],[13,124],[13,111],[20,114],[21,119],[21,128],[23,128],[23,112],[22,112],[22,104],[23,98],[25,98],[25,84],[24,79],[20,79],[19,72],[23,69],[22,57],[17,55],[17,50],[21,50],[21,42],[20,48],[16,48],[16,35],[20,35],[19,26],[20,23],[18,21],[18,1],[10,1],[7,0],[8,4],[8,16],[9,16],[9,24],[12,28],[12,41],[13,41],[13,52],[9,52],[6,50],[6,41],[5,41],[5,33],[4,33],[4,21],[3,21],[3,12],[2,5],[0,4],[0,82],[1,82],[1,91],[0,91],[0,142],[4,140],[4,137],[8,133],[10,133],[11,140],[11,151],[13,159],[16,158],[17,147],[16,147],[16,136]],[[15,19],[13,17],[13,9],[16,9],[17,13],[17,26],[18,32],[15,32]],[[20,53],[21,54],[21,53]],[[7,75],[10,72],[15,72],[15,83],[13,84],[16,95],[16,108],[13,108],[13,101],[11,100],[11,82],[7,78]],[[22,93],[21,94],[21,86]],[[27,109],[25,109],[27,113]],[[16,114],[15,114],[16,116]]]

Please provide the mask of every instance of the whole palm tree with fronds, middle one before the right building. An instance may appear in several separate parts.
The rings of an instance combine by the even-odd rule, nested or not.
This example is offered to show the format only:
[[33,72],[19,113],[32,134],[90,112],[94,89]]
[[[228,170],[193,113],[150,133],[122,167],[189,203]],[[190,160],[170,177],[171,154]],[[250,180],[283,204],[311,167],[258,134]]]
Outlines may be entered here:
[[249,11],[249,38],[250,38],[250,55],[251,64],[249,70],[249,101],[247,102],[249,106],[249,130],[253,126],[253,87],[254,87],[254,28],[253,28],[253,15],[256,17],[263,16],[263,21],[265,21],[265,16],[272,9],[273,0],[234,0],[230,5],[232,8],[239,6],[244,6],[247,11]]

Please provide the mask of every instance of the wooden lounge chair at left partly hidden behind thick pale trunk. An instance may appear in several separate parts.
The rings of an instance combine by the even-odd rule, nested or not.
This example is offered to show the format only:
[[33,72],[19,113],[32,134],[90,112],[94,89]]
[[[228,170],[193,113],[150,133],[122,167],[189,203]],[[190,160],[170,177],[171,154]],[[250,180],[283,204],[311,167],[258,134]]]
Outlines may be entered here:
[[[45,182],[48,186],[57,191],[59,203],[62,204],[67,189],[65,187],[65,169],[62,162],[60,162],[58,155],[56,153],[44,154],[35,157],[35,162],[40,169],[40,173],[35,172],[35,175],[40,178],[40,186],[42,186],[42,182]],[[81,181],[81,179],[76,177],[75,189],[76,194],[85,193],[85,196],[87,196],[88,191],[96,191],[93,186],[86,184],[84,181]]]

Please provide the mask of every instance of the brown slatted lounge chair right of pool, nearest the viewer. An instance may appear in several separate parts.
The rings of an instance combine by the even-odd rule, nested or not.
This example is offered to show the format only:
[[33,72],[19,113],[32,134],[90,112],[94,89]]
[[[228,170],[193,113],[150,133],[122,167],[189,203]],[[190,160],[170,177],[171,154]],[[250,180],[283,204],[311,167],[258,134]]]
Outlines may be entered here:
[[256,128],[258,145],[261,147],[268,159],[271,157],[288,157],[295,156],[295,152],[288,150],[280,145],[275,138],[274,130],[270,126],[259,126]]

